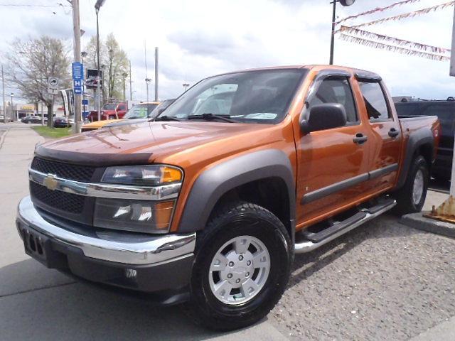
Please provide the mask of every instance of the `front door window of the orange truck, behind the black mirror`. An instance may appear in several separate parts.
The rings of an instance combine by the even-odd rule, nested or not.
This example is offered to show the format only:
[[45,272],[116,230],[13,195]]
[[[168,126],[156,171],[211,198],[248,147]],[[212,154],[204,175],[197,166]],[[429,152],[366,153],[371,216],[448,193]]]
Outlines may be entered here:
[[346,109],[346,119],[348,123],[358,121],[353,92],[350,89],[347,79],[341,80],[327,78],[321,82],[316,94],[309,103],[309,107],[311,109],[311,107],[316,104],[324,103],[343,104]]

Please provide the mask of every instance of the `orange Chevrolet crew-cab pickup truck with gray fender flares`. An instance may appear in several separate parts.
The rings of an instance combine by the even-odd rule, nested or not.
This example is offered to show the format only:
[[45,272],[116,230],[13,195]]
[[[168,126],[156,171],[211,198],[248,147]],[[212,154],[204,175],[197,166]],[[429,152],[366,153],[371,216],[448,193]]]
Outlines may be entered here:
[[282,296],[294,254],[421,210],[438,140],[437,117],[398,119],[373,72],[226,73],[153,122],[37,146],[17,229],[45,266],[242,328]]

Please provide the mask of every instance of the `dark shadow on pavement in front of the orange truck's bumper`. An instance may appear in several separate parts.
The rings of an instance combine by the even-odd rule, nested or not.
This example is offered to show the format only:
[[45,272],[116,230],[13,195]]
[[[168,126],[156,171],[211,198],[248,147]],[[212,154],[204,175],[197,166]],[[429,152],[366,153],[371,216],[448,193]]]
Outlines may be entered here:
[[1,340],[205,340],[226,335],[194,325],[184,305],[159,307],[75,282],[33,259],[1,268],[0,286]]

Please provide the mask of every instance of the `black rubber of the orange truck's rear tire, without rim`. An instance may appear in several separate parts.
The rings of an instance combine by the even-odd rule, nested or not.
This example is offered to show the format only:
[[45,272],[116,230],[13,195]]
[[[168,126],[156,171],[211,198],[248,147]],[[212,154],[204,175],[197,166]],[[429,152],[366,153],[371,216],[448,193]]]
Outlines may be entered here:
[[[414,180],[418,172],[422,172],[423,175],[423,191],[420,199],[418,201],[415,200],[414,202]],[[403,187],[395,193],[395,199],[397,200],[395,213],[399,215],[405,215],[407,213],[422,211],[425,198],[427,197],[428,182],[429,171],[427,161],[425,161],[423,156],[417,156],[412,161],[405,185],[403,185]]]

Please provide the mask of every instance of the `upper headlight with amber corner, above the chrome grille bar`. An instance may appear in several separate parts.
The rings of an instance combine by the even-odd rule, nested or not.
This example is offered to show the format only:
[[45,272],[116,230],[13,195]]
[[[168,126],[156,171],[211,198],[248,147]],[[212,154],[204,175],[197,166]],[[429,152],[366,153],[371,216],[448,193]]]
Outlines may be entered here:
[[101,181],[124,185],[157,186],[178,183],[182,178],[182,171],[171,166],[121,166],[107,168]]

